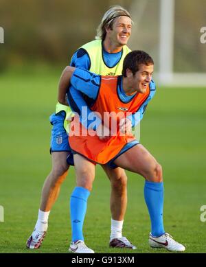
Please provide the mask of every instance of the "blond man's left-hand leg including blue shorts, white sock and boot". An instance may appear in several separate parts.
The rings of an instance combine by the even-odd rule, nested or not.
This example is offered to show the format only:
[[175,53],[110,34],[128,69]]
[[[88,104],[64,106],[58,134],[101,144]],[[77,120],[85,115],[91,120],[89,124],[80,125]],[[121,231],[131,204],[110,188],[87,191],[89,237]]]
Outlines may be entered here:
[[69,165],[68,135],[64,127],[65,111],[53,113],[49,119],[52,124],[51,148],[52,151],[52,172],[47,176],[43,185],[41,195],[41,206],[38,210],[38,220],[32,235],[27,240],[27,248],[40,248],[48,227],[49,212],[58,198],[60,185],[65,180]]

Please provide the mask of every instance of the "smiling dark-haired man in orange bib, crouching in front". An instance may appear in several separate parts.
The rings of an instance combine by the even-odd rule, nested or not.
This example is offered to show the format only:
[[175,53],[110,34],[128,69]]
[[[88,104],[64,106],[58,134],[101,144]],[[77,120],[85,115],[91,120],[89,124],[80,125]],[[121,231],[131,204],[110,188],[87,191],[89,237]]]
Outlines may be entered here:
[[[138,119],[134,119],[135,114],[139,113],[139,119],[142,119],[148,102],[155,95],[155,83],[152,81],[153,69],[154,62],[144,51],[130,52],[124,59],[122,76],[113,78],[67,67],[62,74],[62,79],[66,79],[68,84],[71,82],[67,92],[71,108],[73,111],[77,111],[76,106],[80,103],[78,94],[81,92],[93,99],[92,103],[82,100],[82,105],[83,103],[87,104],[89,116],[91,113],[99,115],[94,126],[91,119],[88,120],[91,123],[87,121],[85,124],[85,121],[82,120],[83,114],[78,113],[72,127],[78,124],[79,129],[86,127],[87,135],[85,132],[82,135],[81,131],[76,133],[74,131],[74,135],[73,132],[72,135],[69,135],[69,143],[73,150],[78,188],[86,190],[89,195],[95,178],[95,163],[106,165],[111,170],[122,167],[140,174],[145,179],[144,198],[151,220],[150,246],[165,248],[168,251],[185,251],[185,247],[176,242],[171,235],[165,233],[163,227],[161,165],[131,133],[131,127],[139,122]],[[60,95],[64,97],[65,90],[60,91]],[[119,106],[122,107],[122,117],[117,119],[119,126],[117,135],[111,135],[111,124],[105,123],[105,121],[109,121],[105,118],[110,113],[119,113]],[[79,106],[78,112],[80,111]],[[128,112],[130,115],[127,115]],[[115,116],[111,117],[115,119]],[[129,126],[125,127],[126,124],[122,124],[122,121],[130,121]],[[105,128],[108,128],[107,136],[102,131]],[[81,217],[80,213],[82,213],[81,207],[76,206],[71,209],[76,209],[76,218],[74,219],[78,222]],[[82,235],[82,229],[80,232]],[[71,252],[76,252],[78,242],[81,240],[73,240],[69,248]],[[116,240],[113,240],[113,243],[115,242]],[[89,253],[93,253],[93,251],[91,250]]]

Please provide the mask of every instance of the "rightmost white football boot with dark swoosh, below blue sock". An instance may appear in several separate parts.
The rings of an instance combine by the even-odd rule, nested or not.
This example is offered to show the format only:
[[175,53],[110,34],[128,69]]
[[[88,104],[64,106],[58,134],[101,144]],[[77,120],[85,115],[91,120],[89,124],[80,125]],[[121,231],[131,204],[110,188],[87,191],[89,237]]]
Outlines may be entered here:
[[163,235],[159,237],[153,237],[150,233],[149,245],[152,248],[165,248],[168,251],[174,251],[174,252],[185,251],[185,246],[176,242],[172,238],[172,235],[170,235],[169,233],[163,233]]

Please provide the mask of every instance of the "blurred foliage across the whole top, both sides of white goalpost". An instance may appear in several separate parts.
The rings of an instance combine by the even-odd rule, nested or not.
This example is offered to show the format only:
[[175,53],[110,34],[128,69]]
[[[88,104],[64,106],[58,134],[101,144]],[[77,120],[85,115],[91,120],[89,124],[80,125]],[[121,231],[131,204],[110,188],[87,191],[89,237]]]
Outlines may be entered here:
[[[102,16],[119,4],[133,16],[131,49],[159,55],[160,0],[0,0],[0,26],[5,43],[0,45],[0,71],[25,65],[65,66],[73,52],[93,40]],[[144,6],[144,8],[142,8]],[[206,70],[206,45],[200,29],[206,26],[205,0],[176,0],[174,71]]]

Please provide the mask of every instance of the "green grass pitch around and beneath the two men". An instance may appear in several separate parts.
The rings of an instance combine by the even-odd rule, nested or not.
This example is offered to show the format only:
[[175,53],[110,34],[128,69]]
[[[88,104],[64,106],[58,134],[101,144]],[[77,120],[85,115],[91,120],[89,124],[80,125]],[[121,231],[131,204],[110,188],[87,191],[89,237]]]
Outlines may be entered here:
[[[59,71],[4,73],[1,88],[0,253],[67,253],[71,241],[69,197],[75,183],[73,167],[49,216],[41,248],[30,251],[25,242],[32,233],[41,189],[51,169],[49,115],[56,104]],[[141,143],[163,166],[165,231],[186,246],[185,253],[206,252],[206,88],[159,89],[141,122]],[[124,235],[137,251],[168,253],[148,246],[150,220],[144,203],[144,179],[128,172],[128,208]],[[96,253],[122,253],[108,248],[111,227],[110,184],[97,167],[84,223],[87,245]]]

